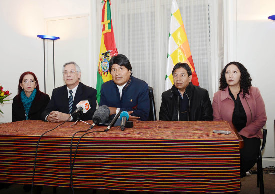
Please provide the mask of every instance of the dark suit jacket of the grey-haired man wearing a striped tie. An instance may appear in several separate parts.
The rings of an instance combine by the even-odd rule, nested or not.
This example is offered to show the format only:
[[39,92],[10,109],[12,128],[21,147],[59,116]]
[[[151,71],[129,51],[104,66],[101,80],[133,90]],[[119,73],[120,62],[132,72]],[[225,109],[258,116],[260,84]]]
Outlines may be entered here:
[[[76,104],[78,104],[81,100],[88,100],[91,107],[88,112],[84,113],[80,117],[81,120],[92,120],[93,113],[96,110],[96,93],[96,89],[79,82],[73,99],[72,112],[77,109]],[[51,111],[59,111],[67,114],[69,113],[67,85],[53,89],[51,99],[44,112],[42,112],[41,119],[45,121],[46,116],[49,115]],[[74,115],[73,121],[76,120],[77,115]]]

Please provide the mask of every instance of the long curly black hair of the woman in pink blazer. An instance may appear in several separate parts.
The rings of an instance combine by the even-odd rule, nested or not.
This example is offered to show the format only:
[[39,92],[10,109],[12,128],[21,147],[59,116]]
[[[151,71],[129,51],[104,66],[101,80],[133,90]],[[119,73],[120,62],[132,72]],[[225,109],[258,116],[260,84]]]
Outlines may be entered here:
[[236,65],[240,71],[240,91],[243,92],[243,98],[244,98],[245,94],[248,94],[248,95],[250,94],[249,89],[252,86],[252,84],[251,84],[252,79],[251,79],[250,74],[248,73],[247,69],[243,66],[243,64],[241,64],[239,62],[230,62],[224,67],[224,69],[222,70],[222,72],[220,74],[219,89],[224,90],[228,86],[228,84],[226,83],[226,79],[225,79],[225,72],[229,65]]

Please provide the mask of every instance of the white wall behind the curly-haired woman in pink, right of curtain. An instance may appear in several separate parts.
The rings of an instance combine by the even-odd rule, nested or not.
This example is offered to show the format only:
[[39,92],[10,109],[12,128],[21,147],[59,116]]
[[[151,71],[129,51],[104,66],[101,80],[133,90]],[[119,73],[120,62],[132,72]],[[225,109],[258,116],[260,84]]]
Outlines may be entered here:
[[250,73],[252,85],[258,87],[261,92],[267,114],[267,141],[263,165],[275,166],[275,22],[267,19],[275,14],[275,1],[236,0],[231,5],[234,6],[231,12],[236,12],[236,15],[231,17],[235,18],[235,25],[232,24],[227,31],[235,33],[229,40],[231,45],[235,46],[228,49],[228,55],[233,57],[228,57],[225,64],[232,60],[242,63]]

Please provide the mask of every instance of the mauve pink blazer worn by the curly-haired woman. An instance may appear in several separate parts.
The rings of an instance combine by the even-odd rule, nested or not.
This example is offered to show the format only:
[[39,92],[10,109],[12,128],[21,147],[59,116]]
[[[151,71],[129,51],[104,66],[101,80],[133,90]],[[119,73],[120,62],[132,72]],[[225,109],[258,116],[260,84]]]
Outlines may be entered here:
[[[247,138],[262,138],[261,128],[265,125],[267,117],[265,113],[265,105],[260,95],[259,89],[251,87],[250,94],[239,94],[240,101],[247,116],[246,126],[240,130],[239,134]],[[222,91],[219,90],[214,94],[213,98],[213,116],[214,121],[225,120],[233,127],[232,116],[235,103],[231,98],[228,86]]]

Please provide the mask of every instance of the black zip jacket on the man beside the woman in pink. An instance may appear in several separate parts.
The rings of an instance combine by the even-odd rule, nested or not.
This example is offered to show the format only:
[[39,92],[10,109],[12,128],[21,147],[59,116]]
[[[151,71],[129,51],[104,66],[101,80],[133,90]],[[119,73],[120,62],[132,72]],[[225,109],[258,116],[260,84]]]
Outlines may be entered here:
[[[189,121],[213,120],[213,108],[208,91],[192,82],[187,86],[185,93],[189,98],[187,117]],[[178,121],[180,94],[173,85],[171,89],[162,93],[162,102],[159,111],[159,120]]]

